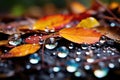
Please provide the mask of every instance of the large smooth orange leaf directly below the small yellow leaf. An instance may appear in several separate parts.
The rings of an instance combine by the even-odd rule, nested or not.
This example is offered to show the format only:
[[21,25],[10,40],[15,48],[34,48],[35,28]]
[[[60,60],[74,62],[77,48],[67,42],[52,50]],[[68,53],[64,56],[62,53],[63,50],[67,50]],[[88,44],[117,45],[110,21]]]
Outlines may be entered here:
[[88,43],[92,44],[99,41],[101,37],[101,33],[96,32],[92,29],[84,29],[82,27],[72,27],[72,28],[64,28],[59,31],[59,34],[75,43]]

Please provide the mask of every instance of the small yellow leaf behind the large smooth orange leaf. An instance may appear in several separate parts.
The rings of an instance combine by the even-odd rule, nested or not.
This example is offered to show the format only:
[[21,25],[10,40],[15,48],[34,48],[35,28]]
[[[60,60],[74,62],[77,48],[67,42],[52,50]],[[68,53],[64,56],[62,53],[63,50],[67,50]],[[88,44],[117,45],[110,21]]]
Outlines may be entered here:
[[78,23],[77,27],[93,28],[99,25],[100,23],[94,17],[88,17],[86,19],[82,19],[80,23]]

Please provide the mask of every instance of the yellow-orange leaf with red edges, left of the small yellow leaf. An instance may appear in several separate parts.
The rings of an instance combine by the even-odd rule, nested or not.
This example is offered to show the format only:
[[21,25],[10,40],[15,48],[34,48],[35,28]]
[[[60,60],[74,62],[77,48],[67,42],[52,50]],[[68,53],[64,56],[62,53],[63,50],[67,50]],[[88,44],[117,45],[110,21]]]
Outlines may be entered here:
[[69,15],[51,15],[39,19],[33,26],[34,30],[61,29],[72,20]]

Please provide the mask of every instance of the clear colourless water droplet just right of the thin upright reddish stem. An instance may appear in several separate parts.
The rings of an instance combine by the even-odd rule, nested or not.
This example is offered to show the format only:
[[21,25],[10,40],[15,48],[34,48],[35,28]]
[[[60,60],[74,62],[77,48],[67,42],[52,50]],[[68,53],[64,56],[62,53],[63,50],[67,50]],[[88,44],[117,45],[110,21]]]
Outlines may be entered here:
[[49,38],[46,40],[45,47],[47,49],[54,49],[58,45],[58,42],[55,41],[55,38]]

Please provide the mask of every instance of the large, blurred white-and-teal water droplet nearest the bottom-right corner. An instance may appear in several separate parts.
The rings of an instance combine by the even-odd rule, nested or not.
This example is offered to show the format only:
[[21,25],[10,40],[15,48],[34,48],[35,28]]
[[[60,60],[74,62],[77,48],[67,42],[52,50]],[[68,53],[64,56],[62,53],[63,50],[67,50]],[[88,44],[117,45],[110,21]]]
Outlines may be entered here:
[[103,68],[103,69],[96,69],[94,71],[94,75],[97,77],[97,78],[103,78],[105,76],[107,76],[108,74],[108,68]]

